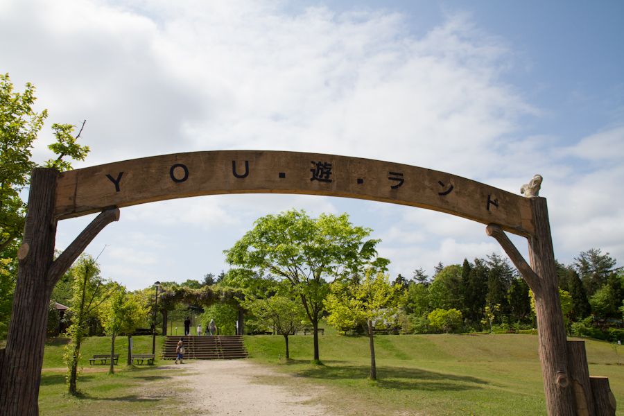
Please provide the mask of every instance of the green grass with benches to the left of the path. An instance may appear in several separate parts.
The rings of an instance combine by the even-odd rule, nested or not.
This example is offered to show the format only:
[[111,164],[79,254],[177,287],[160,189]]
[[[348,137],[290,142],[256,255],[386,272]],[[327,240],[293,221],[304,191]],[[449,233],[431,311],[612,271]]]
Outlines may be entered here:
[[[156,338],[156,353],[159,354],[164,338]],[[119,365],[115,374],[109,375],[108,365],[89,365],[93,354],[110,352],[110,338],[91,337],[81,348],[80,366],[83,372],[78,377],[80,396],[67,395],[63,363],[63,348],[67,340],[48,340],[44,354],[44,365],[39,393],[40,415],[178,415],[175,409],[180,405],[175,386],[168,385],[171,371],[159,370],[164,364],[158,358],[155,365],[128,367],[125,365],[128,340],[117,338],[115,352],[119,354]],[[134,351],[137,354],[152,352],[151,336],[135,336]]]

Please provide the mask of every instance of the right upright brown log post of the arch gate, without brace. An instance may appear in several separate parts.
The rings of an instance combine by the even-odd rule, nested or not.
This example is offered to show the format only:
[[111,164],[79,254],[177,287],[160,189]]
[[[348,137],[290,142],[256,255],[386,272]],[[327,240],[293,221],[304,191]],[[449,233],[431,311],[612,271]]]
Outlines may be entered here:
[[531,198],[535,236],[528,239],[531,268],[539,276],[535,314],[539,361],[548,415],[574,415],[575,405],[567,367],[566,328],[559,300],[555,254],[545,198]]

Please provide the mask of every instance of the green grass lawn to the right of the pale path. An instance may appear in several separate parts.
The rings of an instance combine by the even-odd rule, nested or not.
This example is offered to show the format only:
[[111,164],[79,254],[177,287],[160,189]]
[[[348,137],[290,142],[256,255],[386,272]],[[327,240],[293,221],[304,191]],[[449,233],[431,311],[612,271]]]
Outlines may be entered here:
[[[311,336],[249,336],[250,358],[328,387],[324,404],[340,414],[543,415],[546,405],[532,335],[376,336],[378,381],[367,380],[367,338],[320,336],[324,365],[311,365]],[[590,374],[608,376],[624,404],[624,366],[607,343],[587,341]],[[279,357],[281,356],[281,360]],[[618,414],[624,414],[621,412]]]

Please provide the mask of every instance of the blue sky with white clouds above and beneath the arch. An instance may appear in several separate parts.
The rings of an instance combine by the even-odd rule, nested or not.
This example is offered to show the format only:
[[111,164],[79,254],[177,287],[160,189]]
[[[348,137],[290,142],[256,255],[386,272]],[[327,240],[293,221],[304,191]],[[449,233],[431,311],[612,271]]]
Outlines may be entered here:
[[[624,259],[621,1],[6,1],[0,71],[49,123],[87,119],[93,166],[198,150],[370,157],[519,192],[544,175],[564,263]],[[122,209],[87,248],[128,288],[227,269],[222,251],[284,209],[347,211],[392,277],[501,252],[485,227],[315,196],[212,196]],[[92,217],[64,220],[66,247]],[[514,238],[526,252],[526,243]]]

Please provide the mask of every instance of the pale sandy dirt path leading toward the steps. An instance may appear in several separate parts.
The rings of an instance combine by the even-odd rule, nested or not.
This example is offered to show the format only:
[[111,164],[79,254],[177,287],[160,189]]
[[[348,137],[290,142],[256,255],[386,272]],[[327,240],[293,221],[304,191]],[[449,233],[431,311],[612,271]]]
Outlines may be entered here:
[[[286,379],[291,376],[248,360],[187,361],[181,367],[190,371],[176,376],[173,382],[182,386],[183,399],[189,410],[193,410],[189,414],[329,415],[322,406],[314,404],[322,394],[322,388],[306,390],[303,394],[295,388],[267,384],[267,377]],[[262,380],[265,383],[261,383]]]

